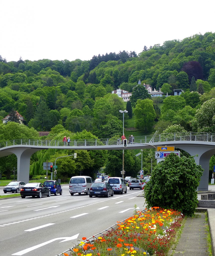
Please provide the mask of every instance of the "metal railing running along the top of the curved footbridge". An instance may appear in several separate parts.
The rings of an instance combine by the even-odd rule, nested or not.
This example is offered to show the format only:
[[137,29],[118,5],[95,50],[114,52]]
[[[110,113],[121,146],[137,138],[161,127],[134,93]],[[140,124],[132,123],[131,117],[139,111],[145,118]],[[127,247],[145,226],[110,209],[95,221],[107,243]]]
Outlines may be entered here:
[[[215,133],[162,133],[146,136],[135,136],[135,143],[150,144],[165,141],[210,141],[215,142]],[[99,145],[118,145],[115,138],[104,139],[80,139],[71,140],[70,146],[99,146]],[[64,146],[62,140],[33,140],[33,139],[16,139],[0,143],[0,148],[14,146],[14,145],[30,145],[30,146]],[[67,146],[67,143],[66,143]]]

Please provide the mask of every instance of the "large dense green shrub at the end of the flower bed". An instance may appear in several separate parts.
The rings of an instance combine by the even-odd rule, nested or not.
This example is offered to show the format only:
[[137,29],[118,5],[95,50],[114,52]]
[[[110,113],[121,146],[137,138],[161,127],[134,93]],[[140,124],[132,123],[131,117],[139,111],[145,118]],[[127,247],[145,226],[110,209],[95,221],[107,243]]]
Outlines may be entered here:
[[202,172],[194,157],[178,157],[171,153],[157,164],[145,185],[147,207],[159,206],[193,216],[198,205],[196,189]]

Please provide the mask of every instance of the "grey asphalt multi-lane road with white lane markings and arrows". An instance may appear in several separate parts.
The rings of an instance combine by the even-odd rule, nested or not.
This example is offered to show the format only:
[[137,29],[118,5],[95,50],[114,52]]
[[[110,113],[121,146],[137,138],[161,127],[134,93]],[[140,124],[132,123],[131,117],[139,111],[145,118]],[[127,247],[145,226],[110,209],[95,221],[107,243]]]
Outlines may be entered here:
[[[143,210],[139,189],[113,197],[60,196],[0,200],[0,255],[54,256],[130,217],[134,205]],[[0,189],[0,194],[3,188]]]

